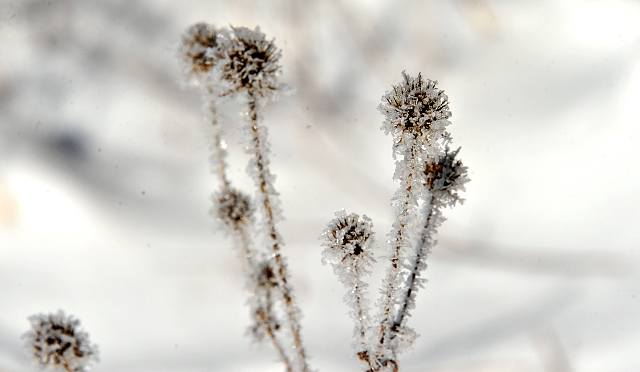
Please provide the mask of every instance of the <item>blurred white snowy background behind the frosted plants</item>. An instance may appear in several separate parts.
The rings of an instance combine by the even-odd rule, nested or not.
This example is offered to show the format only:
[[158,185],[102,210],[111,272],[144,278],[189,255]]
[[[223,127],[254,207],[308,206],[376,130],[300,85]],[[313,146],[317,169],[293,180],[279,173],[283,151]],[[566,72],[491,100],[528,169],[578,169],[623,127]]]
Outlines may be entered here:
[[406,70],[449,95],[472,181],[402,371],[640,370],[638,19],[637,1],[0,1],[0,371],[29,370],[26,318],[57,309],[99,344],[96,372],[283,370],[245,335],[241,266],[208,215],[209,132],[175,57],[198,21],[283,50],[296,93],[265,118],[313,368],[360,370],[317,237],[345,208],[384,253],[376,107]]

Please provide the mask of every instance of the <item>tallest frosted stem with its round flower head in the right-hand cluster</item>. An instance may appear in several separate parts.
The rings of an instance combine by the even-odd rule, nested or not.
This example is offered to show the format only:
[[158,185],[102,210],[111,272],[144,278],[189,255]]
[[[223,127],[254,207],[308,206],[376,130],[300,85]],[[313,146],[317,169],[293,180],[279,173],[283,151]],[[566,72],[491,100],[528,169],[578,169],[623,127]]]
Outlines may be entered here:
[[385,118],[381,129],[393,137],[394,179],[400,181],[392,201],[397,209],[389,234],[390,265],[383,282],[383,296],[378,302],[380,339],[376,355],[382,363],[394,361],[399,340],[406,339],[407,342],[402,342],[405,344],[414,338],[412,331],[399,329],[393,320],[397,316],[397,306],[402,304],[402,286],[407,279],[403,269],[416,238],[419,206],[429,198],[424,164],[430,157],[439,156],[442,142],[450,141],[446,131],[451,124],[449,100],[436,84],[436,81],[423,79],[421,74],[412,78],[403,71],[402,81],[382,96],[378,106]]

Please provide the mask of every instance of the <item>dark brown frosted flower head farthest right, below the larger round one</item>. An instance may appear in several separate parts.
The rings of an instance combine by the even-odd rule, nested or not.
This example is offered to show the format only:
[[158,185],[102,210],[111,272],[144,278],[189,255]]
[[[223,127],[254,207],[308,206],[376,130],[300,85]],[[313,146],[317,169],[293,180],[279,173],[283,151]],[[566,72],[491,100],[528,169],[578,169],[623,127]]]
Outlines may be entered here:
[[460,148],[450,151],[445,147],[444,154],[436,160],[429,160],[425,164],[425,183],[431,193],[444,205],[454,206],[456,202],[463,202],[458,191],[464,190],[464,184],[469,182],[467,167],[456,159]]

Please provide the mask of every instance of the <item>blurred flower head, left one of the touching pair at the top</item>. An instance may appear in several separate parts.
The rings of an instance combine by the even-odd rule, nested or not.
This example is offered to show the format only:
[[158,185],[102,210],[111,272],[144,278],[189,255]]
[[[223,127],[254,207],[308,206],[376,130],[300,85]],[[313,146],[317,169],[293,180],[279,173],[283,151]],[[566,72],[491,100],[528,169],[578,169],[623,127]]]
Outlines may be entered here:
[[187,75],[201,79],[222,57],[228,40],[225,29],[207,23],[196,23],[182,36],[180,55]]

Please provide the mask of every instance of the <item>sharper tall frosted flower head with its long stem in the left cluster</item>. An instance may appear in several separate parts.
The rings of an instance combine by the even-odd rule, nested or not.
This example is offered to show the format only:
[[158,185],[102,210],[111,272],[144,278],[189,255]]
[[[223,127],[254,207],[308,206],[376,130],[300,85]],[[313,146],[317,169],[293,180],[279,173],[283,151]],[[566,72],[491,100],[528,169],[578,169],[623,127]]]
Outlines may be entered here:
[[258,28],[233,28],[232,47],[227,50],[227,59],[222,65],[222,79],[229,95],[246,98],[247,123],[245,137],[247,153],[252,159],[247,172],[256,184],[256,205],[263,219],[259,231],[263,234],[265,247],[271,259],[277,293],[284,306],[283,324],[289,329],[292,348],[283,350],[283,360],[293,371],[307,372],[306,351],[300,336],[300,316],[289,282],[289,273],[282,257],[283,239],[277,229],[281,220],[280,201],[273,182],[275,177],[269,170],[269,143],[267,129],[262,124],[262,109],[268,98],[278,89],[277,75],[280,66],[280,51],[273,41],[265,40]]

